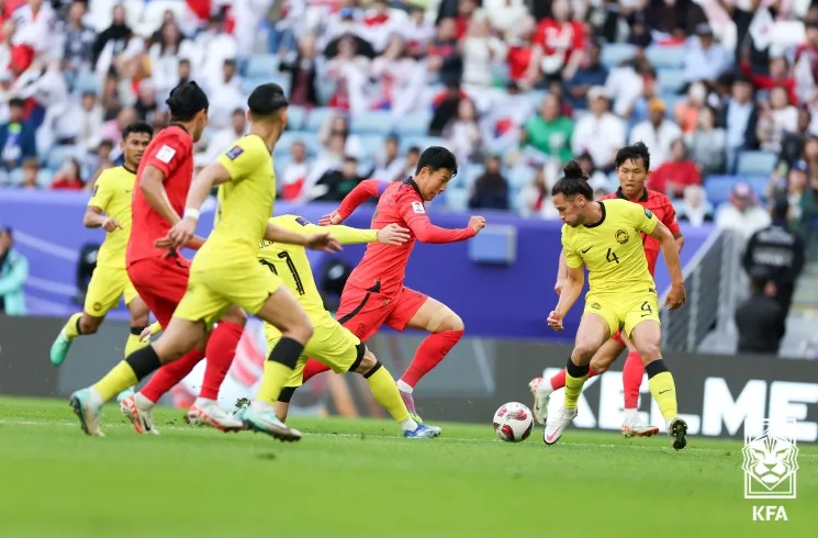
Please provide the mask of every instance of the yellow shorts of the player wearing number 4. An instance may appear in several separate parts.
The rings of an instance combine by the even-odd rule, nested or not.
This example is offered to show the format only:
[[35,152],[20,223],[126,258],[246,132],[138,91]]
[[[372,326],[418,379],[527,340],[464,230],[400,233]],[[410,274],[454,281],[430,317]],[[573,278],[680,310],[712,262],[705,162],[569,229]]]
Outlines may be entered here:
[[640,323],[651,320],[661,325],[659,321],[659,300],[655,292],[643,294],[606,294],[585,295],[584,314],[596,314],[608,324],[613,336],[617,330],[625,330],[630,338],[634,327]]

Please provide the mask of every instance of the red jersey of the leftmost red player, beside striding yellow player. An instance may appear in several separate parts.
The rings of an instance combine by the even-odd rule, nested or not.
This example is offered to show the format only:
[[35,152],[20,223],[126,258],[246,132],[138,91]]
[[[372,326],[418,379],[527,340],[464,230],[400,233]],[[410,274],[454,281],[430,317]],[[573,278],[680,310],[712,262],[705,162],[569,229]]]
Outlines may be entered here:
[[[136,171],[137,186],[147,166],[153,166],[163,172],[168,201],[181,216],[184,213],[184,202],[193,180],[193,141],[188,132],[179,125],[170,125],[156,135],[156,138],[145,149],[145,155]],[[131,212],[133,227],[125,256],[127,265],[145,258],[165,256],[167,250],[156,248],[154,242],[168,235],[170,223],[150,208],[142,189],[134,189]]]

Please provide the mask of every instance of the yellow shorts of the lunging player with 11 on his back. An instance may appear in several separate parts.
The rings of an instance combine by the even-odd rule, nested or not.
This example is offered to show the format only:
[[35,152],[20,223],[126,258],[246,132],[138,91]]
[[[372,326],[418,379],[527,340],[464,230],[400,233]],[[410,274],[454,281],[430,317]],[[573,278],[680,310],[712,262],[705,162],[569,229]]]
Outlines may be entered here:
[[[276,347],[281,333],[272,325],[265,323],[265,337],[268,351]],[[302,372],[307,358],[313,358],[333,369],[336,373],[346,373],[358,360],[358,339],[349,329],[335,320],[315,325],[313,337],[306,343],[304,352],[292,370],[292,376],[284,386],[301,386]]]

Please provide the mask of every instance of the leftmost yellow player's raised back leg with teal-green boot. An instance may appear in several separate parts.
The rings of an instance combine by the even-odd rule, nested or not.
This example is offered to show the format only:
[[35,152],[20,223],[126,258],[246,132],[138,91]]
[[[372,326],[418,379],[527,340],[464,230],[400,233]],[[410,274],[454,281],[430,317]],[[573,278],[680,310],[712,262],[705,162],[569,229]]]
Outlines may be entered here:
[[75,338],[99,330],[105,314],[120,302],[126,281],[124,270],[104,267],[93,270],[82,312],[77,312],[68,318],[52,344],[51,360],[54,366],[60,366],[65,361]]

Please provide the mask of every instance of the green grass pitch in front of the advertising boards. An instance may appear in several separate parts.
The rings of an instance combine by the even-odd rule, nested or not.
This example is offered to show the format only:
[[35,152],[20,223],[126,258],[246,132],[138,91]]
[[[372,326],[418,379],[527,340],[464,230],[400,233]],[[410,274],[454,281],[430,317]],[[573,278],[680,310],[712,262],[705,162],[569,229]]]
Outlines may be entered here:
[[[137,436],[115,405],[107,437],[82,435],[66,401],[0,399],[2,537],[806,537],[818,447],[800,446],[798,498],[743,498],[741,444],[628,440],[535,429],[506,444],[485,425],[410,440],[393,423],[293,418],[281,444],[194,428],[160,410]],[[752,522],[753,505],[788,522]]]

